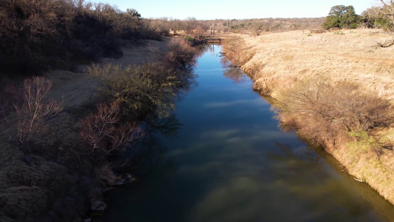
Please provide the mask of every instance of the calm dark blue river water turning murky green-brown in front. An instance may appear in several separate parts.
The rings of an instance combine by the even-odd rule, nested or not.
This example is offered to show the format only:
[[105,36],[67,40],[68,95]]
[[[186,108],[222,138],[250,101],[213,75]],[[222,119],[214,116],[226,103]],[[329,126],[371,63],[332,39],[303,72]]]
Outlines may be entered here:
[[110,193],[104,221],[394,221],[394,207],[331,155],[282,132],[220,50],[205,48],[198,85],[167,122],[172,136],[147,144],[137,181]]

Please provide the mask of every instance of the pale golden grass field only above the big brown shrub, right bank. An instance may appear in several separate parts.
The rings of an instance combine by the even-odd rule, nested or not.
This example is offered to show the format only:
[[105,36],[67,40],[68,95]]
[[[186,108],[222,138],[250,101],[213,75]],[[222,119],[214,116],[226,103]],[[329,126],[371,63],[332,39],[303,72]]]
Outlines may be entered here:
[[[255,89],[273,98],[279,95],[282,87],[294,84],[293,79],[327,75],[333,81],[358,83],[379,97],[393,100],[394,48],[372,47],[392,37],[387,34],[370,36],[374,31],[368,29],[343,32],[344,35],[326,32],[308,36],[302,31],[291,31],[244,36],[246,46],[252,46],[256,55],[242,68],[247,73],[255,73]],[[257,66],[256,70],[255,64],[265,64],[264,69]]]

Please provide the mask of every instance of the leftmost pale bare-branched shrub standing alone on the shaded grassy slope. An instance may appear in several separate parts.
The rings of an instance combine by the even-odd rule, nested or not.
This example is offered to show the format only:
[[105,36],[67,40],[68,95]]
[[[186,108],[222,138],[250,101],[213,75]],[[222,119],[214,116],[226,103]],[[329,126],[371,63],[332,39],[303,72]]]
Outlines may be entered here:
[[45,129],[46,120],[63,109],[63,102],[48,98],[52,82],[44,77],[32,77],[24,81],[24,101],[15,104],[18,114],[19,142],[22,145],[28,137]]

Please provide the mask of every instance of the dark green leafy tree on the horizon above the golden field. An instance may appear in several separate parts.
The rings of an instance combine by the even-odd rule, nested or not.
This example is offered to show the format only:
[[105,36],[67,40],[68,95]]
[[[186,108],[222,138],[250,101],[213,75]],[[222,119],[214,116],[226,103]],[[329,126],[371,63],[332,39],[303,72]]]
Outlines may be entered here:
[[355,13],[353,6],[333,6],[323,23],[325,29],[330,28],[357,28],[359,15]]

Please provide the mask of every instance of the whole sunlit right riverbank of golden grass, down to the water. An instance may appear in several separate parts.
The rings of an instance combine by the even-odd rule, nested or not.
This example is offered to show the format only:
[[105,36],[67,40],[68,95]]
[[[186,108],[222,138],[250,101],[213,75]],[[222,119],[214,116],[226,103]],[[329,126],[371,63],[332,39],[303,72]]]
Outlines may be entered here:
[[[376,120],[373,124],[364,126],[361,121],[357,123],[360,132],[349,129],[335,131],[335,121],[325,117],[321,118],[322,122],[316,122],[317,117],[313,116],[312,111],[318,110],[318,107],[313,105],[308,111],[301,111],[301,108],[299,112],[279,111],[278,117],[282,126],[296,128],[303,136],[323,145],[355,179],[368,183],[394,203],[394,152],[391,145],[394,142],[394,128],[391,123],[391,107],[394,102],[394,60],[391,55],[394,48],[377,47],[379,43],[391,40],[392,36],[381,30],[357,29],[321,34],[292,31],[241,38],[245,41],[245,49],[253,54],[253,57],[242,65],[243,71],[255,81],[256,90],[279,100],[282,107],[295,107],[292,101],[301,100],[294,95],[307,95],[303,94],[306,91],[300,90],[312,89],[318,82],[322,82],[322,79],[325,79],[324,84],[329,87],[327,89],[335,92],[327,92],[326,98],[323,98],[323,94],[321,96],[320,103],[325,102],[328,110],[336,110],[333,104],[329,104],[330,101],[336,101],[334,97],[338,98],[338,103],[335,104],[338,106],[343,101],[350,101],[354,95],[361,94],[368,98],[360,97],[359,102],[354,103],[355,108],[364,109],[363,104],[375,103],[374,101],[380,101],[376,107],[385,106],[381,110],[366,111],[368,115],[371,112],[381,112],[378,116],[384,117],[385,122]],[[310,83],[311,81],[314,83]],[[348,87],[348,91],[340,92],[338,89],[341,84]],[[330,98],[328,95],[336,96]],[[292,100],[289,99],[291,96]],[[303,102],[303,105],[309,104]],[[301,102],[297,103],[300,104]],[[389,111],[384,113],[384,110]],[[342,111],[331,113],[333,119],[342,121],[342,117],[347,115],[346,112],[349,114],[352,110]],[[342,125],[337,126],[342,129]],[[312,131],[322,134],[317,135]]]

